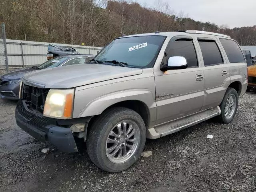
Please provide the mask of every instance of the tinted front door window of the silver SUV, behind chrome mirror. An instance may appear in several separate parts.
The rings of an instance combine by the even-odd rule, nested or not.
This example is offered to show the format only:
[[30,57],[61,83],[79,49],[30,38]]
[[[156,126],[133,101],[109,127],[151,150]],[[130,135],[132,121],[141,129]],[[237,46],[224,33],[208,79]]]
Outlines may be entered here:
[[188,67],[197,67],[196,50],[192,39],[178,39],[170,42],[168,58],[173,56],[183,56],[188,62]]

